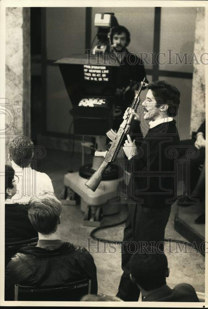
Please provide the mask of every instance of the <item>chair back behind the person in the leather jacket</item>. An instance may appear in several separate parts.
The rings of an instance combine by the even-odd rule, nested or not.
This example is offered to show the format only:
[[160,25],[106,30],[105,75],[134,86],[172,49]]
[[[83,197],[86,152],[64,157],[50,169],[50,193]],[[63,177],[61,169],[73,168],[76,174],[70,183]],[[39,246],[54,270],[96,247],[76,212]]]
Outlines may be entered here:
[[14,300],[21,301],[79,301],[91,292],[91,279],[85,278],[64,286],[31,287],[15,284]]

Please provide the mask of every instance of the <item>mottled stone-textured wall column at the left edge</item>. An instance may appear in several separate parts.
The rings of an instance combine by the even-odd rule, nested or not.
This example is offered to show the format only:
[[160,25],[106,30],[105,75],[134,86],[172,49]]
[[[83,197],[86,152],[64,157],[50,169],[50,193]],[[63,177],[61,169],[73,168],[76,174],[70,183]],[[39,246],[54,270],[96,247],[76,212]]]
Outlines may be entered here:
[[6,143],[30,136],[30,8],[6,8]]

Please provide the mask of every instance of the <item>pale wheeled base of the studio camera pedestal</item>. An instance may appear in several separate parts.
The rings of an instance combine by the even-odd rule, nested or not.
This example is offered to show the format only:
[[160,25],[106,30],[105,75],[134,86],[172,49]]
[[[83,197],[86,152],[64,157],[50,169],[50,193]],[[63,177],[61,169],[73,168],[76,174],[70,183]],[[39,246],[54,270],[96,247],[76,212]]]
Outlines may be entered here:
[[[102,212],[106,215],[120,211],[119,199],[116,203],[111,204],[108,201],[118,197],[119,179],[101,181],[95,192],[85,186],[85,183],[86,178],[81,177],[79,172],[67,173],[64,176],[65,188],[69,188],[81,198],[81,210],[85,213],[84,225],[100,226],[103,218]],[[71,200],[68,200],[67,204],[75,205],[75,202],[72,200],[71,203]]]

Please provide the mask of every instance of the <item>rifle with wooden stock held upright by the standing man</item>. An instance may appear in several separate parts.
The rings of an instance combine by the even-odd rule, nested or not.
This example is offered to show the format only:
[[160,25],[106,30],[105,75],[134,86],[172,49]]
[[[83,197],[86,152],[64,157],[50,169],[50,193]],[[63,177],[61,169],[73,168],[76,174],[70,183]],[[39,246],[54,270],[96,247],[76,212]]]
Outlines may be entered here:
[[[146,85],[147,84],[145,83],[145,78],[144,78],[133,100],[133,103],[131,106],[132,109],[137,110],[137,106],[140,101],[139,95],[141,93],[142,87]],[[104,157],[105,159],[103,163],[100,165],[100,167],[94,172],[94,174],[87,180],[85,184],[92,191],[95,192],[98,185],[100,184],[100,181],[102,180],[102,175],[104,171],[106,170],[108,165],[111,162],[115,161],[115,159],[117,158],[124,135],[128,134],[133,119],[134,119],[134,116],[130,114],[128,118],[122,122],[117,133],[115,133],[112,129],[106,132],[106,135],[112,142],[109,142],[106,151],[96,151],[95,152],[96,157]]]

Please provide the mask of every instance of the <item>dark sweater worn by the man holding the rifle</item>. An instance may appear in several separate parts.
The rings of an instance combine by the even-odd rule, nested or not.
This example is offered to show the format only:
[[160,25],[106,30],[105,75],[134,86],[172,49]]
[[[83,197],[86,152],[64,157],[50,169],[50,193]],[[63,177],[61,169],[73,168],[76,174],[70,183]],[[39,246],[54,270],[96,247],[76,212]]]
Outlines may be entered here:
[[137,146],[140,144],[137,147],[140,155],[128,161],[133,171],[128,188],[129,196],[146,207],[163,208],[171,205],[174,201],[167,204],[166,200],[175,196],[177,188],[173,175],[174,158],[171,158],[168,147],[177,146],[180,142],[176,121],[149,129],[145,138],[142,138],[141,131],[133,138],[136,138]]

